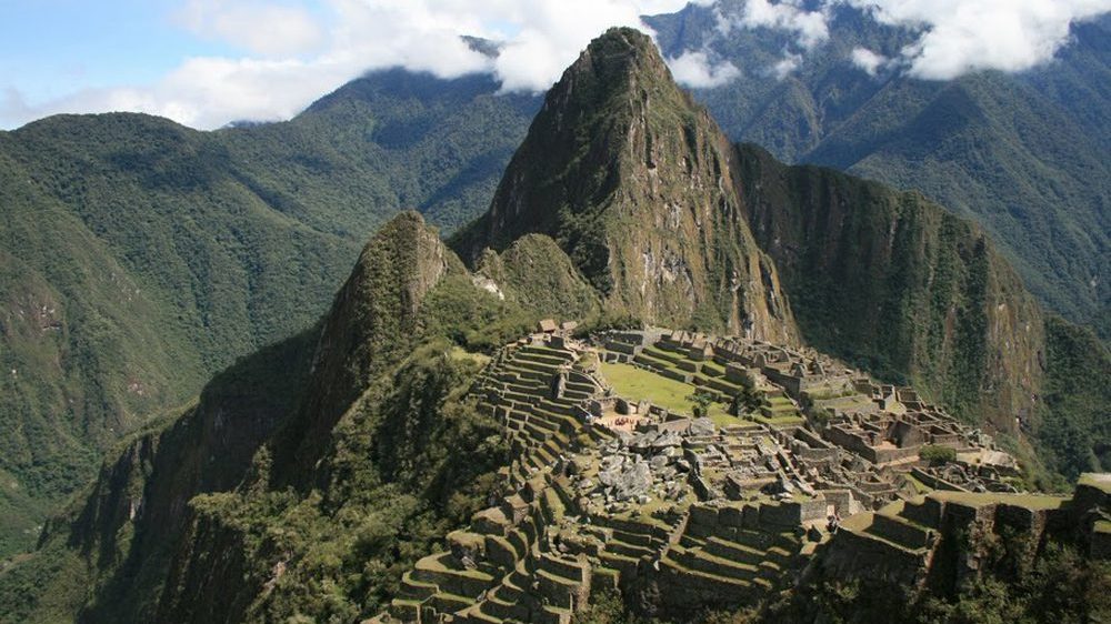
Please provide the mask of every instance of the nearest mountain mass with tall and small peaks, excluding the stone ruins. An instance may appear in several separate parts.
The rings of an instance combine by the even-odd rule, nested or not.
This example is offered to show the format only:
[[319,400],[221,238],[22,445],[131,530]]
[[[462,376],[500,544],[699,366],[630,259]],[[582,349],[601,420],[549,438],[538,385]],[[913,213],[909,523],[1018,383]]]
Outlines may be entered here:
[[[322,320],[109,454],[38,548],[0,571],[0,620],[379,613],[413,562],[498,500],[513,470],[506,425],[468,394],[497,348],[549,315],[828,348],[912,380],[1020,453],[1021,415],[1073,477],[1111,449],[1105,346],[1047,316],[983,231],[920,193],[731,143],[630,29],[597,39],[548,93],[481,218],[444,242],[402,212],[352,264]],[[1027,459],[1020,480],[1052,484]],[[960,604],[959,587],[923,585]],[[464,608],[449,590],[441,608]]]

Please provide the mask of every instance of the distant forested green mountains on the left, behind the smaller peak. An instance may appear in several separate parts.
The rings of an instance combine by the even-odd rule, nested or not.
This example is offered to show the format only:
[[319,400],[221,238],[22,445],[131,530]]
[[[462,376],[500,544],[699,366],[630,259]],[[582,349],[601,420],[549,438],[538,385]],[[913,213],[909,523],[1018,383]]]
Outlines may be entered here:
[[484,209],[536,107],[496,90],[397,70],[286,123],[0,132],[0,557],[119,436],[316,321],[391,214]]

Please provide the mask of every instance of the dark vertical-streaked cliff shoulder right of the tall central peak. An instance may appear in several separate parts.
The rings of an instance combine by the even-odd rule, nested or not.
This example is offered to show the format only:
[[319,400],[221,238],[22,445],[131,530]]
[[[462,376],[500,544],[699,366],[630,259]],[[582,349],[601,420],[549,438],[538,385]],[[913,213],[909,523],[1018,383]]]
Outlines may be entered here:
[[983,232],[918,193],[738,154],[752,231],[804,340],[998,430],[1033,415],[1042,314]]

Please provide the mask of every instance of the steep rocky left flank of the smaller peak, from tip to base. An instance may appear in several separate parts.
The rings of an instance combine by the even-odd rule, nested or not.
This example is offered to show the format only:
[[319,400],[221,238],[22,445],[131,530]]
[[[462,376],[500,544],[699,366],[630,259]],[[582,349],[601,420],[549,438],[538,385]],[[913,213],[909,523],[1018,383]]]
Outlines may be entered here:
[[[73,570],[88,575],[97,600],[87,603],[82,590],[60,610],[83,621],[241,614],[243,604],[220,597],[249,600],[258,591],[256,580],[244,581],[252,562],[242,555],[241,526],[199,515],[192,500],[244,481],[311,487],[337,422],[374,378],[409,355],[424,296],[452,272],[466,273],[434,229],[417,213],[396,217],[367,244],[320,325],[241,360],[196,405],[121,445],[82,503],[50,522],[26,570],[49,576],[59,552],[77,554],[82,564]],[[263,445],[268,460],[260,464]],[[232,584],[242,587],[216,591]],[[18,588],[2,587],[0,597]],[[41,604],[34,613],[44,616]]]

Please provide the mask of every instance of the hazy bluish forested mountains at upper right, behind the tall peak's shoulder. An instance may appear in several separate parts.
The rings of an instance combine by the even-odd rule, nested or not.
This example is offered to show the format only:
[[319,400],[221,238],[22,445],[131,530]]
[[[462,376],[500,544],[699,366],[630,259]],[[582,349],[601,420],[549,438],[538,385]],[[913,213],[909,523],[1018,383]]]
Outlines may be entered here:
[[978,222],[1051,309],[1111,335],[1111,18],[1074,24],[1044,67],[921,81],[853,67],[854,48],[894,58],[918,33],[842,3],[829,40],[779,79],[767,68],[795,34],[720,36],[715,11],[741,7],[725,0],[649,19],[667,56],[709,48],[742,68],[740,79],[694,93],[733,140],[922,191]]

